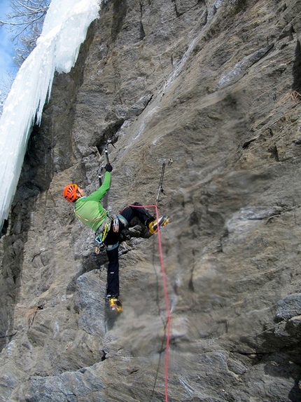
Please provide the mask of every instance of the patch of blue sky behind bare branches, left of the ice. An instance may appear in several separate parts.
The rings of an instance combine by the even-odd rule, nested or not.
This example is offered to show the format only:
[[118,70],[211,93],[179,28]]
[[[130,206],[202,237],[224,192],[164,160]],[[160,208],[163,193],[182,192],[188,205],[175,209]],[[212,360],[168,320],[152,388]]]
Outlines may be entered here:
[[[0,0],[0,19],[7,20],[10,0]],[[13,65],[13,43],[9,40],[8,27],[0,27],[0,81],[8,79],[7,73],[15,75],[17,68]]]

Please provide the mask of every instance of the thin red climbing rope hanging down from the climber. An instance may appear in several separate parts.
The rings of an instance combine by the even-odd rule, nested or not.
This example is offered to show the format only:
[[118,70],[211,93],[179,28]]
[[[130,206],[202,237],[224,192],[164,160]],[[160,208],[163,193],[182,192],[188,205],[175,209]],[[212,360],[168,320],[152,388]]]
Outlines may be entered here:
[[170,340],[170,306],[169,306],[169,296],[167,290],[167,279],[165,274],[165,265],[163,259],[163,250],[162,250],[162,242],[160,235],[160,227],[159,227],[159,213],[157,205],[148,205],[148,206],[137,206],[137,205],[129,205],[134,208],[155,208],[155,217],[158,224],[158,243],[159,243],[159,253],[160,253],[160,264],[161,264],[161,274],[162,274],[162,282],[163,282],[163,290],[165,297],[165,307],[167,312],[167,333],[166,333],[166,354],[165,354],[165,402],[168,402],[168,368],[169,368],[169,340]]

